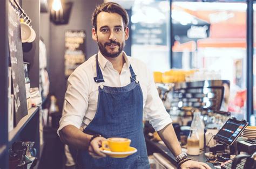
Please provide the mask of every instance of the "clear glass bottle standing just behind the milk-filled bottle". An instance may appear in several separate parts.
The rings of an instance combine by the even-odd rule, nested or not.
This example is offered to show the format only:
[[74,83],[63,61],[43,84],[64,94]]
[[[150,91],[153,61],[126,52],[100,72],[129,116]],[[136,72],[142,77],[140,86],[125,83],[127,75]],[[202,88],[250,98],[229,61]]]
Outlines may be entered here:
[[201,112],[196,110],[193,113],[193,121],[191,123],[191,129],[195,129],[198,132],[199,142],[200,142],[200,149],[204,149],[204,140],[205,140],[205,124],[201,119]]

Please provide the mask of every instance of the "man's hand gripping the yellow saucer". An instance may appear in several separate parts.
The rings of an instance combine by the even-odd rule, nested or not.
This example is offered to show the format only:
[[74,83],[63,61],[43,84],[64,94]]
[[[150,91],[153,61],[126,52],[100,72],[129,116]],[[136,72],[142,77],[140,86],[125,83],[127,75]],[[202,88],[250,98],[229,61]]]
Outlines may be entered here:
[[106,140],[104,137],[96,137],[91,141],[88,151],[93,158],[99,159],[106,157],[106,155],[99,150],[104,140]]

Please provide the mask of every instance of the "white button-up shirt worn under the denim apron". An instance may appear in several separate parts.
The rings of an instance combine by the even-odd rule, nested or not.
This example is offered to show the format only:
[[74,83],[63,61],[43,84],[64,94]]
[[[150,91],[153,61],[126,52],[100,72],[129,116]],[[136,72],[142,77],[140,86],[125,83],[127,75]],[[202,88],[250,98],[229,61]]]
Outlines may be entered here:
[[130,65],[137,75],[143,93],[143,114],[152,124],[156,131],[163,129],[172,122],[170,115],[166,112],[163,102],[158,96],[153,81],[152,72],[146,65],[132,57],[127,57],[123,52],[125,64],[119,74],[111,62],[98,52],[99,67],[102,71],[105,82],[96,83],[94,77],[96,72],[96,55],[93,55],[86,62],[80,65],[68,79],[63,114],[59,122],[59,130],[66,125],[74,125],[78,129],[84,129],[95,117],[98,103],[99,85],[111,87],[123,87],[131,83]]

